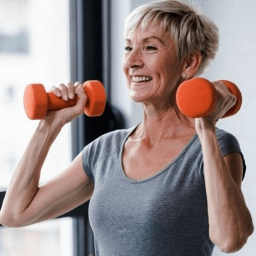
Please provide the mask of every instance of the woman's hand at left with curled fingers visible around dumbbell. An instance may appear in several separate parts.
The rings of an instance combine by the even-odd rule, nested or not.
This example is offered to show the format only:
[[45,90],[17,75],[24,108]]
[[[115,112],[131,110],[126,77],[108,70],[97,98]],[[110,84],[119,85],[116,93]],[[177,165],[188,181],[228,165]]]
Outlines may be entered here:
[[48,111],[45,120],[52,121],[53,119],[58,118],[65,124],[83,113],[88,97],[84,92],[81,82],[61,83],[58,87],[52,87],[50,92],[53,92],[57,97],[62,98],[65,101],[74,99],[75,95],[77,95],[78,100],[76,105],[72,107]]

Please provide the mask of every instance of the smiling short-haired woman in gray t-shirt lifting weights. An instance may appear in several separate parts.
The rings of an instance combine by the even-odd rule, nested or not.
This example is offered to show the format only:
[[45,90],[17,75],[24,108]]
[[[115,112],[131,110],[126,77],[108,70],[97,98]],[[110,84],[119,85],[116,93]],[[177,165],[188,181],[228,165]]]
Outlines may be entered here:
[[143,122],[101,136],[67,169],[38,186],[40,169],[61,127],[83,113],[80,83],[52,90],[76,106],[41,120],[8,187],[6,226],[55,218],[90,200],[96,255],[211,255],[243,247],[253,232],[241,191],[240,146],[216,123],[236,98],[220,82],[209,116],[179,112],[179,84],[201,74],[218,48],[218,29],[178,1],[134,10],[126,19],[123,71]]

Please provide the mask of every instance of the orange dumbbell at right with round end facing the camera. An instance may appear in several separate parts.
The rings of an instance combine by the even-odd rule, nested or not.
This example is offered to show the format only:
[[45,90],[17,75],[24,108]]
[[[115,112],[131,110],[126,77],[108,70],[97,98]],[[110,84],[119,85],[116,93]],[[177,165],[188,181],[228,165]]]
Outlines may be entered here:
[[[236,114],[242,105],[242,94],[236,84],[223,82],[228,90],[237,97],[236,104],[222,117]],[[192,78],[182,82],[176,93],[176,102],[179,110],[188,117],[202,117],[215,110],[217,97],[214,85],[205,78]]]

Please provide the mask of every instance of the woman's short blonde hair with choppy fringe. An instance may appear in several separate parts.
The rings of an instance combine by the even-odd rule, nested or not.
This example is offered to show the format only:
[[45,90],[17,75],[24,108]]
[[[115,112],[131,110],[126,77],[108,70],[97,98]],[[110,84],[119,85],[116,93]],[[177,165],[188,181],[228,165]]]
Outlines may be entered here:
[[219,30],[199,8],[181,0],[164,0],[142,5],[125,19],[124,36],[137,28],[145,30],[158,24],[163,31],[170,32],[176,43],[178,60],[182,61],[189,53],[199,51],[202,55],[200,75],[215,58],[219,47]]

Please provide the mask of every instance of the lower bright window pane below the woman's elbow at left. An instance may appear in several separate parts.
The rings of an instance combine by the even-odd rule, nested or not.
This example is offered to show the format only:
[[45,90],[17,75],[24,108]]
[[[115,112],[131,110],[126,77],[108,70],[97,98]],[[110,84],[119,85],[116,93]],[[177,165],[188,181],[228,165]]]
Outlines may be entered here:
[[0,228],[2,256],[71,256],[73,225],[71,218],[45,221],[22,228]]

